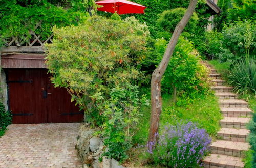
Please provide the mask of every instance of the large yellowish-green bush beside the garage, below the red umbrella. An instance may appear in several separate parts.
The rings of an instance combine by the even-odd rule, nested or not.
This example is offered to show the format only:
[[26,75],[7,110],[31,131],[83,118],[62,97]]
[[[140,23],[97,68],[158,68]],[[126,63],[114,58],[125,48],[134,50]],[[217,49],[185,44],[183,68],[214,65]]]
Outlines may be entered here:
[[65,87],[72,101],[93,125],[104,122],[100,104],[111,88],[136,84],[143,74],[136,67],[145,52],[147,26],[134,17],[124,21],[93,16],[79,26],[53,29],[48,48],[48,69],[55,87]]

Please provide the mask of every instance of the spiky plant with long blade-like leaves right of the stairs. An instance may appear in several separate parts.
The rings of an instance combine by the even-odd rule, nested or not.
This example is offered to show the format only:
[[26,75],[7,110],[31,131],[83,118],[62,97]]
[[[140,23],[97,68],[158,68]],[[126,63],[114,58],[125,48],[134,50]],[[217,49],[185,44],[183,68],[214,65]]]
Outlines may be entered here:
[[256,60],[246,58],[234,64],[230,70],[229,83],[240,93],[256,93]]

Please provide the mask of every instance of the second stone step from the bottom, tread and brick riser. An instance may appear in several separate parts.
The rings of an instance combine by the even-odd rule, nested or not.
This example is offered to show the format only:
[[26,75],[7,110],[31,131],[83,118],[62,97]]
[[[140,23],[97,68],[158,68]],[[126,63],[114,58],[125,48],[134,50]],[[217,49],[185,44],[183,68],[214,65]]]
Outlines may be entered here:
[[244,157],[244,152],[249,150],[250,145],[247,142],[216,140],[210,148],[215,154]]

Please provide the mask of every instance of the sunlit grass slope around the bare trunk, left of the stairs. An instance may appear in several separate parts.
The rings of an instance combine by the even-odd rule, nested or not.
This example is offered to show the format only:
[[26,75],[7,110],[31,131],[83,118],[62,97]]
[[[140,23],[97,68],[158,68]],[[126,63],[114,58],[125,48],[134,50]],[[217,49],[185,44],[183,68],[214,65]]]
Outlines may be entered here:
[[[150,95],[150,90],[147,89],[147,95]],[[150,97],[148,97],[150,98]],[[203,128],[211,136],[217,136],[217,132],[220,129],[220,120],[222,114],[220,113],[220,107],[218,99],[213,94],[207,94],[199,97],[191,104],[184,106],[177,106],[172,101],[172,95],[163,94],[163,111],[160,118],[160,134],[164,125],[176,125],[178,121],[195,122],[198,123],[200,128]],[[148,106],[142,106],[140,109],[139,123],[137,129],[134,131],[133,136],[134,144],[146,144],[148,140],[148,128],[150,127],[150,113],[151,109]],[[137,157],[137,156],[135,156]]]

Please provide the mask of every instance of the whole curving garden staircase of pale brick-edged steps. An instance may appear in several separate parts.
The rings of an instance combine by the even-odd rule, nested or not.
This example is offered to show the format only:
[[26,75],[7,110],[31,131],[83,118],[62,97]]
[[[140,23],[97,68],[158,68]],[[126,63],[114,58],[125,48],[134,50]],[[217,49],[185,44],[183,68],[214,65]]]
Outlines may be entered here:
[[251,119],[252,111],[244,100],[238,99],[238,95],[232,93],[232,87],[224,86],[224,80],[221,75],[216,73],[206,61],[203,63],[211,70],[209,74],[214,82],[212,90],[219,97],[219,104],[223,119],[220,121],[221,129],[217,133],[218,138],[211,144],[211,155],[203,160],[204,167],[226,167],[240,168],[244,167],[242,158],[244,152],[250,147],[246,139],[249,130],[246,124]]

